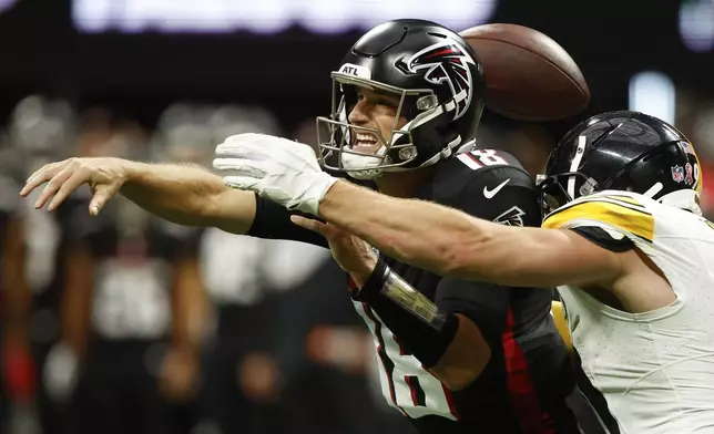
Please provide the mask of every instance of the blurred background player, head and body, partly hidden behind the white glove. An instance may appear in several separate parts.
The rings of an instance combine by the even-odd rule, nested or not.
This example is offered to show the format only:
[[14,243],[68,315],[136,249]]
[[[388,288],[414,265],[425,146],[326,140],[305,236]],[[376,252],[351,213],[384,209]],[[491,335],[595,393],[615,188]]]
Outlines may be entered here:
[[[241,132],[277,132],[259,107],[176,104],[156,136],[160,159],[210,165],[217,143]],[[211,433],[282,433],[282,374],[274,354],[275,301],[266,276],[266,242],[208,228],[200,244],[201,272],[215,309],[203,353],[201,427]]]

